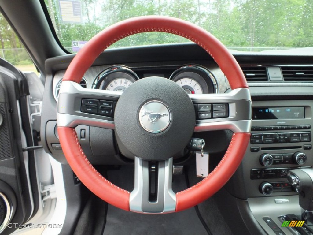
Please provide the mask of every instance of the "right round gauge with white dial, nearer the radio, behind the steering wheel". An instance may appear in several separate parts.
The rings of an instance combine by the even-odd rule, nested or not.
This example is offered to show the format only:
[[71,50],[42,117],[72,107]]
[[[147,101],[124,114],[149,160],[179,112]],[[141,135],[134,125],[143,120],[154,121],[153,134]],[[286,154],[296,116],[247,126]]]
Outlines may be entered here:
[[217,93],[214,76],[205,68],[187,65],[175,70],[170,79],[181,86],[187,94]]

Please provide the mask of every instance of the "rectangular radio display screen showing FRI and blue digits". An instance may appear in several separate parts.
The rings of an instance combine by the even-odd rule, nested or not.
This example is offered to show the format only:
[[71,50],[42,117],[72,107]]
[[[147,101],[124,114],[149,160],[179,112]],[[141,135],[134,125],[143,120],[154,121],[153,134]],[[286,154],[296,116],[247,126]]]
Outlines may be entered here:
[[304,107],[255,107],[252,108],[252,119],[302,119]]

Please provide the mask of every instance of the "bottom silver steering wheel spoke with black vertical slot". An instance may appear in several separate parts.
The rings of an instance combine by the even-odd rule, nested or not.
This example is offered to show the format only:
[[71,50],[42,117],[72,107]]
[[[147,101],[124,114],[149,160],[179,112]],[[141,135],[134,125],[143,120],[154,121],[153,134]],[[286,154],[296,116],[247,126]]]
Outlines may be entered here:
[[[176,195],[172,190],[172,168],[172,158],[155,162],[155,168],[152,167],[152,171],[155,171],[155,183],[153,183],[154,177],[149,172],[151,162],[135,157],[135,187],[129,199],[132,212],[146,214],[175,212]],[[151,185],[155,189],[152,199]]]

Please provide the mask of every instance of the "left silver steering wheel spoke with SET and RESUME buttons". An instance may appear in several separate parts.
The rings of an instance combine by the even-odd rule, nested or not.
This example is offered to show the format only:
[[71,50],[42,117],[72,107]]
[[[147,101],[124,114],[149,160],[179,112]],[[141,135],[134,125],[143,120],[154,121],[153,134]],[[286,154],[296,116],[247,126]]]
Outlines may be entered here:
[[[58,126],[74,128],[88,125],[115,129],[114,107],[121,94],[121,91],[87,89],[73,81],[62,81],[57,105]],[[83,103],[85,101],[90,101],[90,104]],[[103,106],[105,102],[112,107]]]

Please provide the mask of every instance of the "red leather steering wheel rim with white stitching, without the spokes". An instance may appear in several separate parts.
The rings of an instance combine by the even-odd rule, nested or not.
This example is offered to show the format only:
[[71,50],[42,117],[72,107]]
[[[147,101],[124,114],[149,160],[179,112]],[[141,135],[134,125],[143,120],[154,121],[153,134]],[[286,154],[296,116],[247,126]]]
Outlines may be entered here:
[[[212,34],[181,19],[163,16],[143,16],[114,24],[95,35],[85,44],[66,70],[60,92],[65,83],[64,81],[79,83],[82,76],[98,55],[111,44],[126,36],[142,32],[167,32],[190,39],[206,50],[215,60],[228,78],[229,84],[233,90],[248,88],[243,72],[237,61],[234,59],[233,55],[228,52],[227,48]],[[58,110],[62,103],[62,96],[59,96]],[[251,110],[249,110],[249,112],[251,112]],[[130,192],[115,186],[95,170],[80,146],[75,129],[60,125],[59,119],[58,116],[60,143],[64,155],[74,173],[95,195],[116,207],[129,211]],[[238,168],[249,139],[249,132],[234,133],[229,147],[218,166],[198,184],[176,194],[176,206],[174,211],[179,212],[188,209],[216,193]]]

